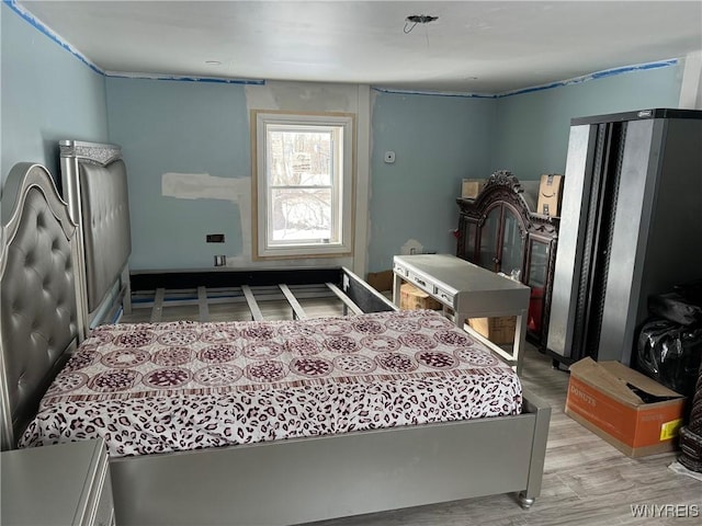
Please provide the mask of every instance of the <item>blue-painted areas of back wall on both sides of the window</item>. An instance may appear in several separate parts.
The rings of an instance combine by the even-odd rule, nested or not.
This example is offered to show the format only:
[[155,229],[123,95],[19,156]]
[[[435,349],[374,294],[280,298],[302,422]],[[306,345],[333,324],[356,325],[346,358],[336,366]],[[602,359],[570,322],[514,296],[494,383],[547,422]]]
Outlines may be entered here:
[[[463,178],[489,174],[496,101],[383,92],[373,100],[369,271],[388,268],[409,239],[454,252],[455,197]],[[132,268],[211,267],[215,254],[241,254],[242,228],[251,227],[236,203],[165,196],[161,176],[249,178],[245,87],[109,78],[107,107],[110,140],[129,167]],[[383,162],[386,150],[394,164]],[[205,243],[206,233],[224,233],[226,243]]]

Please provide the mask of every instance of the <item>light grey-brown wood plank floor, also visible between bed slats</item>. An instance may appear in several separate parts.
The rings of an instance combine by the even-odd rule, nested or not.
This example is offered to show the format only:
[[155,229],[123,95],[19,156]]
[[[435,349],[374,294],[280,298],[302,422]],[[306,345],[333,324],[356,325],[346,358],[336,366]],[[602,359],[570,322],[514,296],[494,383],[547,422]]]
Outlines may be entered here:
[[[307,300],[305,308],[315,317],[341,313],[341,307],[328,300]],[[270,319],[290,318],[282,302],[265,302],[261,310]],[[245,306],[210,307],[210,312],[213,321],[247,319]],[[196,308],[165,309],[163,320],[169,319],[195,320]],[[123,321],[148,321],[148,311],[135,309]],[[525,354],[522,382],[552,407],[542,493],[531,510],[522,510],[516,495],[502,494],[325,521],[315,526],[702,524],[702,481],[668,468],[676,454],[632,459],[573,421],[563,411],[568,374],[554,369],[551,358],[533,347]],[[632,506],[646,506],[638,508],[645,516],[636,516]]]

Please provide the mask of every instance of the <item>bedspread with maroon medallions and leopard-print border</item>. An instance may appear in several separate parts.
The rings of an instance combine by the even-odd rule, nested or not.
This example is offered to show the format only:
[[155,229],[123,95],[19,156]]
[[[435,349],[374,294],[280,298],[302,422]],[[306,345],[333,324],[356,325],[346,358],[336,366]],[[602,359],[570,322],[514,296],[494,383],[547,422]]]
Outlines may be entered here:
[[440,313],[99,327],[21,447],[102,436],[111,456],[521,412],[512,369]]

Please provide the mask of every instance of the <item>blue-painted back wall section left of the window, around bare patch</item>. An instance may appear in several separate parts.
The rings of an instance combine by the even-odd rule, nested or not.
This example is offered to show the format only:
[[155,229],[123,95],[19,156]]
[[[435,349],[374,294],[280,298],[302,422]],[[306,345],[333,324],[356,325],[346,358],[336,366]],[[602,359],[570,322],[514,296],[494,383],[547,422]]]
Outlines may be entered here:
[[[215,254],[241,253],[234,201],[165,196],[161,175],[207,173],[250,185],[244,87],[109,78],[107,108],[110,140],[129,172],[131,267],[212,267]],[[224,233],[226,243],[206,243],[207,233]]]

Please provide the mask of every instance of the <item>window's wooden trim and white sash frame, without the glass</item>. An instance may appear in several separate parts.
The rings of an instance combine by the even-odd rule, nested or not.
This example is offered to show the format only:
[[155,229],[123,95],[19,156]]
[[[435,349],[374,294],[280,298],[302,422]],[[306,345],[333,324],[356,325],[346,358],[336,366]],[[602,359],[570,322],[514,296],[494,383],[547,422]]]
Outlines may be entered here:
[[[341,148],[342,157],[335,167],[341,169],[340,174],[332,179],[340,178],[338,192],[332,193],[332,217],[340,222],[340,240],[335,243],[291,243],[274,244],[269,239],[269,202],[271,198],[271,185],[268,173],[268,126],[291,126],[291,127],[340,127],[342,129],[342,140],[340,145],[335,145],[335,151]],[[308,258],[333,258],[347,256],[353,252],[353,204],[355,186],[355,115],[351,113],[293,113],[270,110],[251,111],[251,157],[253,164],[252,173],[252,222],[253,222],[253,251],[254,260],[265,259],[308,259]]]

